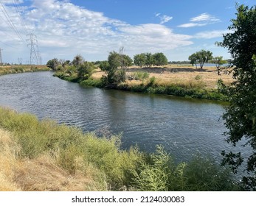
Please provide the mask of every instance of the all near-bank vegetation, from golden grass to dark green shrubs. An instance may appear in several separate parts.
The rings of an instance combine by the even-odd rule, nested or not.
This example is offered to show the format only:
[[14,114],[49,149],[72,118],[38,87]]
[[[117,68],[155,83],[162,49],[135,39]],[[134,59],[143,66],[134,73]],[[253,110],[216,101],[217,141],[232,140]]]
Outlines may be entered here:
[[0,191],[237,191],[229,170],[210,157],[174,163],[120,149],[120,136],[97,138],[0,107]]

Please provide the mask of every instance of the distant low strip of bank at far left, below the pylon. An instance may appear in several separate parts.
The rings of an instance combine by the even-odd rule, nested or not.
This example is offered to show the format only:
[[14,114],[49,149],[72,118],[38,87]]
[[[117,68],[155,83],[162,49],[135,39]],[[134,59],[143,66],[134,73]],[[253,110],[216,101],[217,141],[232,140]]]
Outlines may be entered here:
[[49,70],[46,65],[0,65],[0,75]]

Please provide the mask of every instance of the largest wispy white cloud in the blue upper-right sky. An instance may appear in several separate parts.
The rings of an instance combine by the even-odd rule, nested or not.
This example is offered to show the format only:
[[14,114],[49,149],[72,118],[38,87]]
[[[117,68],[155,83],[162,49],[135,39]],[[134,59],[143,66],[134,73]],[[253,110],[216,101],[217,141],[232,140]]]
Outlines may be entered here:
[[214,24],[220,21],[221,21],[220,19],[215,18],[215,16],[213,15],[210,15],[208,13],[202,13],[201,15],[190,18],[190,23],[181,24],[179,25],[179,27],[188,28],[188,27],[194,27],[194,26],[205,26],[207,24]]

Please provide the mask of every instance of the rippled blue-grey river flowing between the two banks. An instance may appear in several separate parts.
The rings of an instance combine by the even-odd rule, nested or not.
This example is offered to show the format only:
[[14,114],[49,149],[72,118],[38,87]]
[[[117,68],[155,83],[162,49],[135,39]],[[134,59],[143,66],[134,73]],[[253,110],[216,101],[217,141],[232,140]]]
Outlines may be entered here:
[[162,144],[176,160],[189,160],[197,153],[221,158],[221,150],[231,148],[222,135],[226,128],[221,104],[81,88],[52,77],[50,71],[1,76],[0,105],[75,125],[84,132],[122,132],[122,149],[138,145],[153,152]]

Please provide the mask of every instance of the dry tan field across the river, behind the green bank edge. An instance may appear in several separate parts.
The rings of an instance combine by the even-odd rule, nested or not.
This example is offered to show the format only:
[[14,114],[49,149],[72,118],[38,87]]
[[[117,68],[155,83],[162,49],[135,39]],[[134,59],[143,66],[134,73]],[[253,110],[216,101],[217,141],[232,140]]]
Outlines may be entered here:
[[[207,66],[203,69],[196,68],[196,66],[192,65],[165,65],[164,67],[152,68],[138,68],[133,66],[126,70],[128,76],[131,76],[131,74],[137,71],[148,72],[150,77],[156,77],[156,82],[159,85],[193,85],[195,82],[201,82],[201,84],[204,84],[204,88],[216,88],[218,79],[222,79],[226,85],[229,85],[233,81],[232,74],[224,74],[224,72],[221,71],[221,76],[218,76],[215,67]],[[104,74],[103,71],[97,69],[92,77],[99,79]],[[196,80],[196,77],[198,80]],[[131,80],[127,81],[127,83],[134,85],[140,84],[141,81]]]

